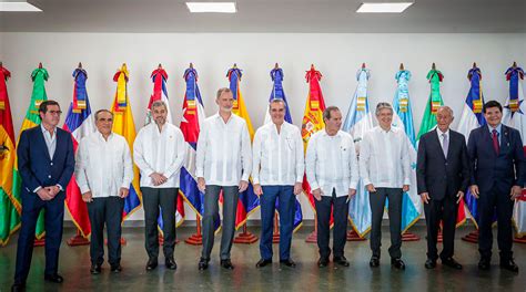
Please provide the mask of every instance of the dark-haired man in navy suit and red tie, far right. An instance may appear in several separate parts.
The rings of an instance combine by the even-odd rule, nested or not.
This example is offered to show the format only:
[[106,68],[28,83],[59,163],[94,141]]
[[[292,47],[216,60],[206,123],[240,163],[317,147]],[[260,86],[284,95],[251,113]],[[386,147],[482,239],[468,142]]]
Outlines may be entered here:
[[524,187],[524,152],[517,129],[500,124],[503,107],[498,102],[484,104],[487,126],[472,131],[467,150],[472,160],[471,190],[478,199],[478,268],[488,270],[492,259],[492,223],[497,211],[500,268],[518,272],[513,260],[512,215]]

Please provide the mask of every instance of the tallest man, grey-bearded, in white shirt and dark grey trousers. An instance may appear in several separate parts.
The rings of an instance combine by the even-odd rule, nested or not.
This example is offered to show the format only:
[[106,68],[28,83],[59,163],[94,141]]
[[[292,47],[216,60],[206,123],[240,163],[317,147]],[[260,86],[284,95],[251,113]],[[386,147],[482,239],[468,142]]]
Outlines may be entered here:
[[252,150],[246,122],[232,113],[234,96],[229,88],[220,88],[215,97],[218,114],[204,119],[198,139],[195,176],[204,192],[203,250],[199,270],[209,268],[214,244],[214,218],[219,212],[218,199],[223,190],[223,236],[221,267],[234,269],[230,259],[234,239],[235,213],[240,192],[249,187],[252,170]]

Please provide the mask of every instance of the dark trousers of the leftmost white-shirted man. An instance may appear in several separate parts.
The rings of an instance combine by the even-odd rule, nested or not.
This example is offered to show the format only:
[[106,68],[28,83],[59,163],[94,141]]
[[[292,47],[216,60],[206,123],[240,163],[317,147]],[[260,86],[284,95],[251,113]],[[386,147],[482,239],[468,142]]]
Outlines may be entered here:
[[91,225],[90,257],[91,264],[104,262],[104,225],[108,232],[108,262],[121,263],[121,222],[124,199],[120,197],[93,198],[88,202],[88,216]]

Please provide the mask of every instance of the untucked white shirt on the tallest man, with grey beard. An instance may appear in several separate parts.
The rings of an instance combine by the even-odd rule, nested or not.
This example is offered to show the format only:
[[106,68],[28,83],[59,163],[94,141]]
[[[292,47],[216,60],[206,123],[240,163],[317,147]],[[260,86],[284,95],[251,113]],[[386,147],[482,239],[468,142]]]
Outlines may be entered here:
[[195,176],[204,177],[206,185],[216,186],[249,181],[251,152],[245,121],[232,114],[224,123],[218,113],[204,119],[199,134]]

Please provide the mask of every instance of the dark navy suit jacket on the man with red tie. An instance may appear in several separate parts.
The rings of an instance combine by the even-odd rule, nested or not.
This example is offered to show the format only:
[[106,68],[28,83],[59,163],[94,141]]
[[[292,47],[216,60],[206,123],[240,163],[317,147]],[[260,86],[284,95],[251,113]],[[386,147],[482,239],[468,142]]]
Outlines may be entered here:
[[517,129],[502,125],[499,154],[493,148],[493,139],[487,125],[473,129],[467,143],[472,163],[471,184],[479,191],[492,187],[510,189],[524,186],[524,150]]

